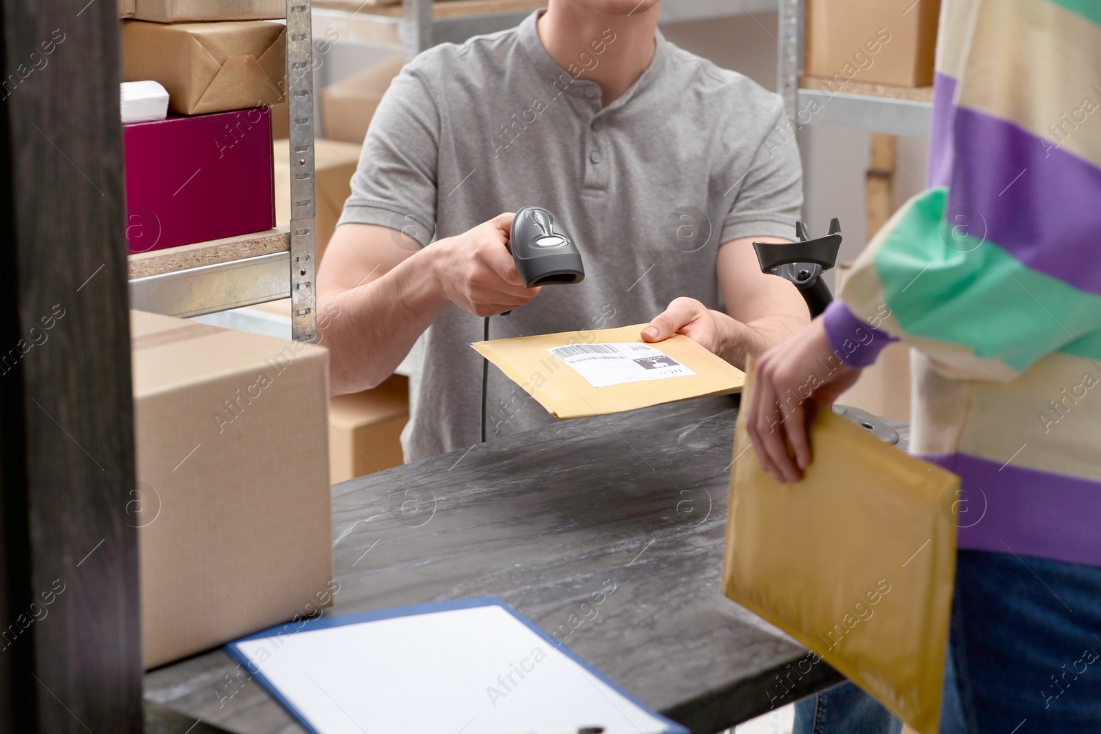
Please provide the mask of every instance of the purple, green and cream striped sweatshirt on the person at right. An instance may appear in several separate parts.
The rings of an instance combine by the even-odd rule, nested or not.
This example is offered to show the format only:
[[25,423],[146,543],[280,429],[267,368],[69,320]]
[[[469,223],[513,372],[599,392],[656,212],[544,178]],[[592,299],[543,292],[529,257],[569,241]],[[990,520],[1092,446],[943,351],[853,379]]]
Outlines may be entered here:
[[944,0],[928,188],[824,319],[854,366],[913,348],[960,548],[1101,566],[1101,2]]

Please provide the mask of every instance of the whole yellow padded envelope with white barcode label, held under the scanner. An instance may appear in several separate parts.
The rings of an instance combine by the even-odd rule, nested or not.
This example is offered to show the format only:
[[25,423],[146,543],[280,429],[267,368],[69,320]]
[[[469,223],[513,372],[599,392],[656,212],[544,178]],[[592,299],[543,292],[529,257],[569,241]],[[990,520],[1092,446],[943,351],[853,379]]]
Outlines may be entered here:
[[472,344],[556,418],[634,410],[741,390],[745,373],[684,335],[647,344],[645,324]]

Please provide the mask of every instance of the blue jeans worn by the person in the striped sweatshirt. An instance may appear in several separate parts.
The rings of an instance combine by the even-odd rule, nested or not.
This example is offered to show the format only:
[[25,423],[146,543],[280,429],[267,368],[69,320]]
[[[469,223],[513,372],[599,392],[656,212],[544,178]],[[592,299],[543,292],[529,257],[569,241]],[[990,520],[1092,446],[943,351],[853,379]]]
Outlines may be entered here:
[[[1098,734],[1101,568],[959,551],[946,667],[940,734]],[[792,734],[901,728],[846,682],[796,703]]]

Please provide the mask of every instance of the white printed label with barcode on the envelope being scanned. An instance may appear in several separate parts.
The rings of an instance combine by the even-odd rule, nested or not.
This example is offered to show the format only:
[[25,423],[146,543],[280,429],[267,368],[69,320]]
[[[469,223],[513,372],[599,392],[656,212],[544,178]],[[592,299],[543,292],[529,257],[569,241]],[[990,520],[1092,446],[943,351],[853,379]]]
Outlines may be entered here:
[[639,342],[569,344],[550,347],[547,351],[574,368],[593,387],[696,374],[659,349]]

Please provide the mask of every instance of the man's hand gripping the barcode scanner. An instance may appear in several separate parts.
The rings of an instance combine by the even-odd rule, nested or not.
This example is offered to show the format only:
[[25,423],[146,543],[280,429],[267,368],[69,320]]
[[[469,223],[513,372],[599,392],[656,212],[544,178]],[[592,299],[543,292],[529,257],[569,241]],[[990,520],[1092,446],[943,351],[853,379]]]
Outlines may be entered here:
[[525,288],[509,252],[511,212],[471,230],[440,240],[432,254],[437,289],[475,316],[494,316],[534,298],[539,288]]

